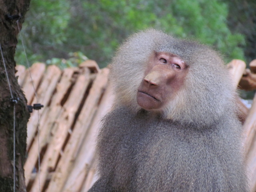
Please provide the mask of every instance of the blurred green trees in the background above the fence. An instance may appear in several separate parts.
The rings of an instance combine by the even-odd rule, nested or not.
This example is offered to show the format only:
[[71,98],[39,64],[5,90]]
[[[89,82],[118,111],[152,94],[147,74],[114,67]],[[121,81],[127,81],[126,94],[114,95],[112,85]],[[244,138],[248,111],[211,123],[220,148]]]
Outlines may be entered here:
[[[219,50],[226,62],[256,58],[255,0],[32,0],[21,35],[30,63],[106,66],[129,34],[164,30]],[[19,42],[16,62],[26,58]]]

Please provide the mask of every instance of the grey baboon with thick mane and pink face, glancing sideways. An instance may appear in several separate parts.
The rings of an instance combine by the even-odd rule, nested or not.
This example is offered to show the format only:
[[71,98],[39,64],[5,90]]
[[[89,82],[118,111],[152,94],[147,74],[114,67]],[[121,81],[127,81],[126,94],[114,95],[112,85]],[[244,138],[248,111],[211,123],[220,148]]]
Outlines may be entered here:
[[109,65],[115,101],[89,192],[246,192],[236,90],[208,46],[148,29]]

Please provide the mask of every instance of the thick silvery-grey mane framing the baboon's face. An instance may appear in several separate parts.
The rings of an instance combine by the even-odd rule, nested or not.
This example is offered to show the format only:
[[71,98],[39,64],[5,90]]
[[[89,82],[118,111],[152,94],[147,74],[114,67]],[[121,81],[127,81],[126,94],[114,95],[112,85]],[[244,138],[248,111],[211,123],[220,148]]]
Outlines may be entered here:
[[180,56],[188,65],[188,74],[176,98],[153,113],[184,123],[211,124],[234,110],[231,103],[236,92],[218,53],[208,46],[179,40],[153,29],[131,36],[109,65],[116,105],[127,106],[133,112],[141,109],[136,93],[154,51]]

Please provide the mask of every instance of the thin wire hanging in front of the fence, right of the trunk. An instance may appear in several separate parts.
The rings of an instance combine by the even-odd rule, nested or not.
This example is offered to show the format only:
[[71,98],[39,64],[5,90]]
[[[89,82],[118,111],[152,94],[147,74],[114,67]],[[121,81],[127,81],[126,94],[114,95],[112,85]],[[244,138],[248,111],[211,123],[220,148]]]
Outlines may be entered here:
[[[22,47],[23,47],[23,51],[24,51],[24,54],[25,54],[25,58],[26,58],[26,61],[27,61],[27,66],[28,66],[28,72],[29,72],[29,75],[30,75],[30,79],[31,79],[31,82],[32,82],[32,86],[33,86],[33,89],[34,89],[34,93],[35,93],[35,96],[36,96],[36,102],[38,103],[38,96],[36,94],[36,88],[34,86],[34,82],[33,82],[33,79],[32,79],[32,75],[31,75],[31,71],[30,71],[30,64],[28,63],[28,57],[27,57],[27,54],[26,54],[26,50],[25,50],[25,46],[24,46],[24,43],[23,43],[23,39],[22,39],[22,35],[20,33],[20,26],[19,26],[19,20],[16,21],[17,23],[17,26],[18,26],[18,30],[19,30],[19,34],[20,34],[20,39],[21,39],[21,44],[22,44]],[[37,126],[36,126],[36,129],[37,129],[37,134],[38,134],[38,188],[39,188],[39,191],[41,191],[40,189],[40,140],[39,140],[39,135],[40,135],[40,130],[39,130],[39,111],[38,112],[38,121],[37,121]]]

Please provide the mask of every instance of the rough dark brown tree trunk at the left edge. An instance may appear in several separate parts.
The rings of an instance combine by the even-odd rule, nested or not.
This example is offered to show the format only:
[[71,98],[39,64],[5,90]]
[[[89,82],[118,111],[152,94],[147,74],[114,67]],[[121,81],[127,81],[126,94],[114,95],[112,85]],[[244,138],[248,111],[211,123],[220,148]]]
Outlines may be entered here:
[[0,192],[13,192],[14,179],[16,192],[26,192],[24,169],[26,154],[26,124],[29,113],[26,98],[15,78],[14,61],[17,44],[18,26],[24,22],[24,15],[28,10],[30,0],[0,0],[0,44],[10,80],[16,114],[16,150],[15,150],[15,178],[14,178],[14,102],[4,69],[4,62],[0,53]]

